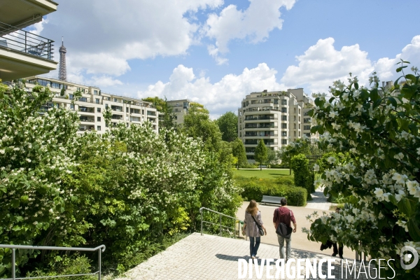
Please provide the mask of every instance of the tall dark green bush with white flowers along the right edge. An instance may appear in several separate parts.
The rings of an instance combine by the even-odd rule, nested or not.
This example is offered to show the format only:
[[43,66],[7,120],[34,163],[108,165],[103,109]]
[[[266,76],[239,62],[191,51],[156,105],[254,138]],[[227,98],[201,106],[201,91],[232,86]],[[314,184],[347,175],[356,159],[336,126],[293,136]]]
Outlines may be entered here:
[[[394,92],[379,87],[377,76],[370,77],[370,89],[350,76],[349,85],[334,83],[329,99],[315,95],[309,114],[311,132],[323,134],[320,148],[349,153],[349,162],[335,162],[319,183],[325,193],[353,199],[340,214],[311,218],[306,232],[313,241],[340,240],[372,258],[393,258],[397,278],[418,279],[418,265],[400,266],[402,246],[420,253],[420,77],[414,67],[404,73],[407,63],[400,62]],[[392,270],[384,276],[393,277]]]

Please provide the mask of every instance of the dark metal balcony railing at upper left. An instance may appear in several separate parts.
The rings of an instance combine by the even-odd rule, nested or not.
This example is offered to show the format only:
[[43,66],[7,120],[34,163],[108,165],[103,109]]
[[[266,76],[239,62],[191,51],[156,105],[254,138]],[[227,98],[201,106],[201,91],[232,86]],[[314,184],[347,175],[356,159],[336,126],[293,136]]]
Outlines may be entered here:
[[52,60],[54,41],[0,22],[0,48],[10,48]]

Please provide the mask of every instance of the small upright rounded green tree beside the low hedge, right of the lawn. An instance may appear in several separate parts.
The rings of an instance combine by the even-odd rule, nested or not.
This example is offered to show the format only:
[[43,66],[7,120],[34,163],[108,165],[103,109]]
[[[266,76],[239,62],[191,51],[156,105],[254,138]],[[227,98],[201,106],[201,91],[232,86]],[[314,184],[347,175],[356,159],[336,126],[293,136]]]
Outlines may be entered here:
[[290,160],[290,167],[295,174],[295,186],[307,189],[307,200],[311,200],[311,193],[314,192],[314,172],[309,170],[309,160],[304,154],[295,155]]

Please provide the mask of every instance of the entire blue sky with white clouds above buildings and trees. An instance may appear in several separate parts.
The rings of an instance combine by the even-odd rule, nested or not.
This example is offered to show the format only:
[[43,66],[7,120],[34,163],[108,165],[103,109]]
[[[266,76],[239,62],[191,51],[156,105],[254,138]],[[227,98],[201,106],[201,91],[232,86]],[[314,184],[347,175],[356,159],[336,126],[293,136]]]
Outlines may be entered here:
[[[64,37],[67,80],[130,97],[190,99],[211,118],[251,92],[395,80],[420,66],[419,0],[55,0],[28,30]],[[409,68],[409,67],[408,67]],[[57,77],[58,71],[45,76]]]

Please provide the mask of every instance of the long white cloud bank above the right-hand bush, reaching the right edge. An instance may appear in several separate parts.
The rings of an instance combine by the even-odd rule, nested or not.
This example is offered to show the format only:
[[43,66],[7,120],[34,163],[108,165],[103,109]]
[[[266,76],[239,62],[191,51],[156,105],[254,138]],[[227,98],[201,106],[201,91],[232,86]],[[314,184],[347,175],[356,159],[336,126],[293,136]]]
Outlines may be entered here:
[[395,80],[400,76],[400,73],[395,73],[395,64],[400,59],[420,66],[420,35],[414,36],[411,43],[402,48],[402,52],[395,58],[383,57],[377,62],[368,59],[367,52],[360,50],[358,44],[336,50],[334,38],[318,40],[296,59],[298,65],[288,66],[281,78],[281,82],[288,88],[306,87],[307,92],[327,92],[334,80],[347,81],[349,72],[358,76],[361,85],[367,85],[373,71],[377,72],[382,81]]

